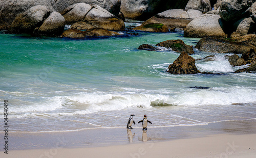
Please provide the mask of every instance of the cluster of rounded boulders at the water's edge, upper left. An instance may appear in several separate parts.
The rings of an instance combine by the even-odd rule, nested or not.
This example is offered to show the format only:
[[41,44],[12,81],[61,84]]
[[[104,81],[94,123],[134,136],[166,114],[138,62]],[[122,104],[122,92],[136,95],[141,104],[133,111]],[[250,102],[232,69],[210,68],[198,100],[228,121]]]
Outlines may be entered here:
[[[42,1],[41,3],[44,4],[43,2],[44,1]],[[106,3],[106,1],[104,2]],[[114,3],[114,1],[110,1],[110,2],[113,2],[112,4],[118,4],[118,3]],[[59,4],[61,3],[61,1],[58,1],[56,3]],[[6,20],[5,23],[3,23],[4,25],[2,25],[2,28],[7,29],[8,33],[11,33],[11,34],[25,33],[25,34],[34,34],[34,35],[47,35],[47,36],[60,36],[63,33],[66,24],[70,24],[71,28],[77,29],[76,32],[79,32],[81,30],[93,30],[93,29],[95,31],[96,28],[101,29],[100,31],[97,30],[97,33],[95,34],[96,36],[102,34],[102,30],[107,30],[107,31],[108,30],[114,30],[114,31],[124,30],[123,20],[118,18],[116,15],[110,13],[108,10],[103,9],[97,4],[93,4],[93,3],[73,4],[63,9],[60,13],[57,11],[54,11],[53,6],[49,4],[47,6],[43,6],[43,5],[33,6],[28,10],[17,14],[12,21],[10,19]],[[63,6],[58,7],[58,5],[54,7],[56,7],[56,10],[60,10],[61,8],[63,8]],[[110,6],[108,7],[105,6],[105,8],[108,8],[110,11],[115,12],[116,6],[112,6],[112,9],[109,7]],[[5,10],[6,8],[8,7],[4,6],[4,9],[2,10]],[[16,8],[14,7],[13,10],[15,10]],[[119,3],[119,10],[120,10],[120,3]],[[119,10],[118,10],[118,13],[119,13]],[[4,15],[0,14],[0,17],[1,16],[4,16]],[[71,31],[74,31],[74,30],[71,30]],[[98,33],[98,32],[101,32],[101,33]],[[106,33],[106,31],[103,31],[103,32],[104,32],[103,33],[104,36],[118,35],[117,33],[114,33],[114,32],[109,32],[109,31],[108,33]],[[63,36],[65,35],[66,33],[63,34]],[[85,34],[83,33],[83,35]],[[89,36],[89,35],[85,35],[85,36]]]

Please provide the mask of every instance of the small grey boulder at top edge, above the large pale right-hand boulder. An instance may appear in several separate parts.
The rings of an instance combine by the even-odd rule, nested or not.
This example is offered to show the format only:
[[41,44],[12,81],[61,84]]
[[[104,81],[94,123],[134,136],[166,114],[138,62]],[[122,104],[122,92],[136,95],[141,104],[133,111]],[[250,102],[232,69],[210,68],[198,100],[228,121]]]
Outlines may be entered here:
[[209,0],[189,0],[185,10],[195,9],[202,13],[210,11],[211,5]]

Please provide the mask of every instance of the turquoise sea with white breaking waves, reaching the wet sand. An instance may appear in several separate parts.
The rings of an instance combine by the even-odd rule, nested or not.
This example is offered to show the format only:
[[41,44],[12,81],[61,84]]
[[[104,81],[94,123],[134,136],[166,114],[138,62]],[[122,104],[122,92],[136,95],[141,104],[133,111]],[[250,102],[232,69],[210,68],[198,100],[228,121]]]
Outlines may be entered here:
[[[135,121],[146,114],[152,127],[256,118],[256,74],[233,73],[246,66],[232,67],[226,54],[195,49],[195,59],[216,55],[215,61],[196,61],[200,71],[222,74],[169,74],[179,53],[138,50],[139,45],[181,39],[195,46],[200,39],[182,32],[122,34],[91,39],[0,34],[0,98],[2,104],[8,100],[11,130],[121,128],[132,113]],[[189,88],[194,86],[210,89]]]

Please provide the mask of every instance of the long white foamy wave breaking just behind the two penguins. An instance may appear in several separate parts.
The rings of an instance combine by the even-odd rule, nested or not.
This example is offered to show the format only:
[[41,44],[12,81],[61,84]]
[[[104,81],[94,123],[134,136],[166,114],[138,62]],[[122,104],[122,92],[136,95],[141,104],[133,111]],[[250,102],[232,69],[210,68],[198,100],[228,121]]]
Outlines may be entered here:
[[[131,89],[130,89],[131,90]],[[12,113],[47,112],[65,108],[68,112],[56,112],[58,115],[92,114],[104,111],[119,111],[131,107],[151,109],[154,106],[207,106],[230,105],[236,103],[255,103],[256,91],[244,87],[189,89],[175,94],[154,94],[152,91],[133,93],[80,93],[70,96],[53,97],[45,102],[14,107]],[[17,115],[17,117],[24,117]]]

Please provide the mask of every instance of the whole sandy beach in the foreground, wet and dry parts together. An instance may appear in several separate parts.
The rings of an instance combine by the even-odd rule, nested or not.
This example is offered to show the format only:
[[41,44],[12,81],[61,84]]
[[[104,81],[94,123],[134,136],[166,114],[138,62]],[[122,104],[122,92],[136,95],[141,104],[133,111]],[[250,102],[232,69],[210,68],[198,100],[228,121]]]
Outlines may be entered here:
[[255,157],[255,120],[199,126],[10,133],[0,157]]

